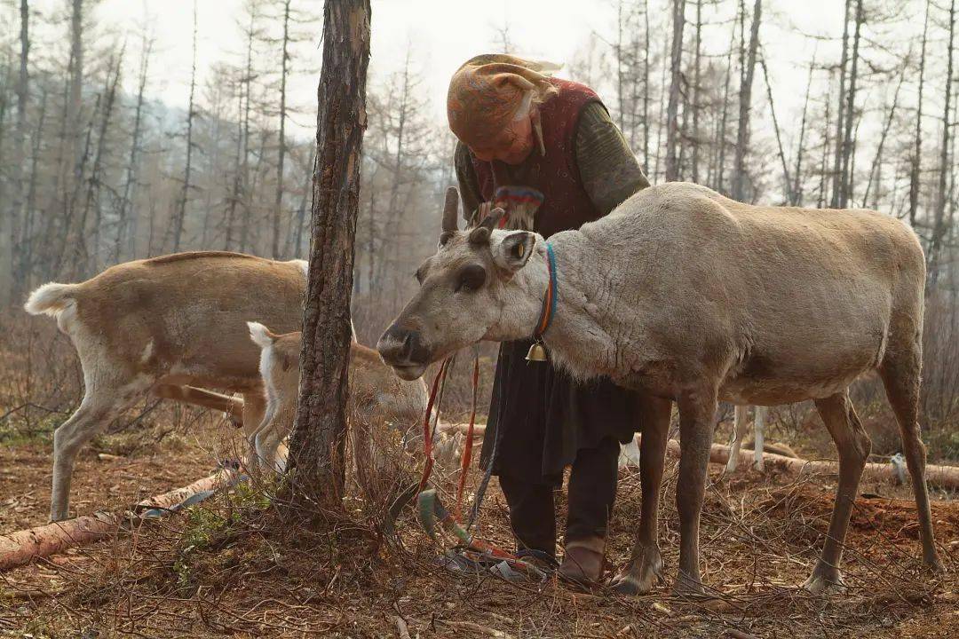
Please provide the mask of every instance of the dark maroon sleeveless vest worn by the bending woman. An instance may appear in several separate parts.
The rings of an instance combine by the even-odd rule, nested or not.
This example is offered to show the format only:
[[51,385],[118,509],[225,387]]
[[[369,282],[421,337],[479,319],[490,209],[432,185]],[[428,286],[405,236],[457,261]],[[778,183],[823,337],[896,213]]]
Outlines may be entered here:
[[559,89],[559,94],[539,106],[546,156],[540,155],[538,146],[534,145],[522,165],[526,174],[522,180],[510,178],[509,165],[497,160],[481,162],[473,157],[484,201],[492,200],[501,186],[532,187],[545,195],[533,228],[545,238],[559,231],[577,229],[599,217],[579,177],[575,147],[579,114],[586,104],[600,102],[599,96],[583,84],[555,78],[550,82]]

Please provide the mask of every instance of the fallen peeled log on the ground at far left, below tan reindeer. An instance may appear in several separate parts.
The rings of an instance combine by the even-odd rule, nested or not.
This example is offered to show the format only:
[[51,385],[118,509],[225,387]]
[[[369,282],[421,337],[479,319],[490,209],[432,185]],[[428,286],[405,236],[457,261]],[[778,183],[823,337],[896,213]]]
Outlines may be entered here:
[[[213,491],[236,479],[233,470],[222,469],[189,486],[145,499],[127,513],[93,513],[74,519],[55,521],[44,526],[0,536],[0,571],[21,566],[37,557],[62,553],[68,548],[99,541],[132,529],[136,521],[161,516],[176,510],[184,500]],[[146,511],[146,513],[143,513]]]

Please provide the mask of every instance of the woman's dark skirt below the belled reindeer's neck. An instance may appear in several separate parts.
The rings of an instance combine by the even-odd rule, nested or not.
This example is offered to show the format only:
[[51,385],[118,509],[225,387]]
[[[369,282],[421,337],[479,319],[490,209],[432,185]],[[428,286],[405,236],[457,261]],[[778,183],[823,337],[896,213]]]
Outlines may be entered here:
[[640,429],[639,403],[608,377],[578,384],[549,362],[527,362],[531,344],[500,346],[479,465],[488,467],[499,437],[493,474],[559,485],[580,448],[609,437],[629,442]]

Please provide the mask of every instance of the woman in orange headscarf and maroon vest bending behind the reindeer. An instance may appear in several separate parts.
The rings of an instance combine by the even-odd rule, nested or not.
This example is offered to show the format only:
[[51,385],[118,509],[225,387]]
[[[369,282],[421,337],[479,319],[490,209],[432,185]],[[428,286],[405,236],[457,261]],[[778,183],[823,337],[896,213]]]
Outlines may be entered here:
[[[539,209],[510,213],[507,225],[549,238],[605,216],[649,186],[596,93],[551,78],[555,68],[520,57],[478,56],[450,81],[456,177],[470,219],[489,208],[501,187],[535,189],[544,195]],[[577,384],[548,362],[527,362],[530,346],[501,348],[480,465],[492,463],[500,478],[519,552],[550,557],[556,550],[553,490],[572,466],[560,574],[596,582],[620,443],[639,429],[637,402],[607,379]]]

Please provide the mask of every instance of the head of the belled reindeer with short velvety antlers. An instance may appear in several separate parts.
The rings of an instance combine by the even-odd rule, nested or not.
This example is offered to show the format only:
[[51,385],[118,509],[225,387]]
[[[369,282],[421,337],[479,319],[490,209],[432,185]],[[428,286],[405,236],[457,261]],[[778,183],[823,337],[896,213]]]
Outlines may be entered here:
[[543,238],[497,229],[502,209],[460,232],[458,201],[450,187],[436,254],[416,271],[420,289],[377,344],[403,379],[479,340],[528,337],[539,317],[549,278]]

